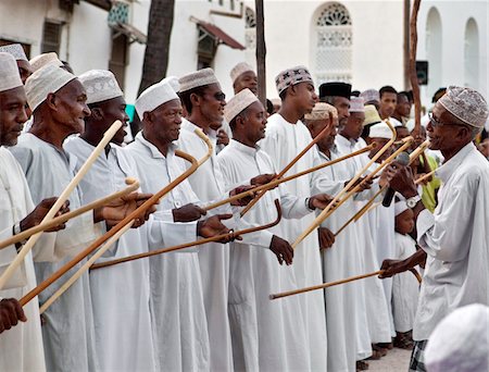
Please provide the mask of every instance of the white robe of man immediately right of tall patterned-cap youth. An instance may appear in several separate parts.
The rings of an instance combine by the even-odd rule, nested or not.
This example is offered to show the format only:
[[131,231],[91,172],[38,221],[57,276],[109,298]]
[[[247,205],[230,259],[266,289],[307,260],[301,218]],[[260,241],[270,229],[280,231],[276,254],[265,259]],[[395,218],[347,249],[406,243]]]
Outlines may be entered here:
[[[319,162],[324,163],[341,157],[337,149],[331,149],[331,158],[319,152]],[[318,171],[331,181],[331,187],[324,191],[336,195],[344,183],[354,175],[354,164],[350,160],[324,168]],[[318,190],[314,190],[318,191]],[[331,214],[322,226],[337,233],[341,226],[356,212],[352,198],[346,201]],[[355,223],[350,223],[335,240],[335,244],[322,251],[324,282],[338,281],[360,275],[365,271],[362,250],[363,232]],[[378,281],[378,280],[377,280]],[[381,294],[380,283],[378,283]],[[364,306],[364,286],[360,281],[336,286],[325,290],[326,325],[328,335],[328,370],[355,371],[358,330],[367,332]],[[359,313],[363,319],[359,319]],[[363,324],[358,324],[359,321]],[[363,328],[362,328],[363,327]]]

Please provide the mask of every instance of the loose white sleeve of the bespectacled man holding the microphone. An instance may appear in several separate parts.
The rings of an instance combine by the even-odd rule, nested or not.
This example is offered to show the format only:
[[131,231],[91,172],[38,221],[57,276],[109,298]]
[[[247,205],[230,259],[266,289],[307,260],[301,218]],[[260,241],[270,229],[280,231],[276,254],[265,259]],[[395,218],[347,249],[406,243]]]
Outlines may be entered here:
[[[472,179],[468,178],[472,176]],[[446,262],[460,261],[468,255],[473,231],[474,196],[478,179],[468,175],[443,197],[443,210],[431,214],[423,210],[417,216],[419,246],[431,257]],[[484,228],[484,227],[481,227]]]

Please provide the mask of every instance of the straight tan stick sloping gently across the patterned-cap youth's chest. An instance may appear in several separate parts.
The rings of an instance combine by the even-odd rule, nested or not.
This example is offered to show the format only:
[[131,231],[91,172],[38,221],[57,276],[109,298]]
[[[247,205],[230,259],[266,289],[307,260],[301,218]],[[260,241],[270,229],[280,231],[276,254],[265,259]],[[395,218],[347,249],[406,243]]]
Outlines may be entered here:
[[272,189],[272,188],[274,188],[274,187],[276,187],[276,186],[278,186],[279,184],[283,184],[283,183],[285,183],[285,182],[289,182],[289,181],[291,181],[291,179],[301,177],[301,176],[306,175],[306,174],[310,174],[310,173],[312,173],[312,172],[316,172],[316,171],[318,171],[318,170],[322,170],[323,168],[326,168],[326,166],[329,166],[329,165],[339,163],[339,162],[341,162],[341,161],[343,161],[343,160],[347,160],[347,159],[356,157],[356,156],[359,156],[359,154],[361,154],[361,153],[371,151],[371,150],[374,149],[376,146],[377,146],[376,144],[372,144],[372,145],[368,145],[368,146],[364,147],[363,149],[360,149],[360,150],[358,150],[358,151],[354,151],[354,152],[352,152],[352,153],[349,153],[349,154],[347,154],[347,156],[344,156],[344,157],[340,157],[340,158],[338,158],[338,159],[335,159],[335,160],[325,162],[325,163],[323,163],[323,164],[319,164],[319,165],[310,168],[309,170],[305,170],[305,171],[302,171],[302,172],[292,174],[292,175],[290,175],[290,176],[286,176],[286,177],[284,177],[284,178],[271,181],[269,183],[267,183],[267,184],[265,184],[265,185],[256,186],[256,187],[253,187],[253,188],[251,188],[251,189],[249,189],[249,190],[247,190],[247,191],[243,191],[243,193],[237,194],[237,195],[235,195],[235,196],[231,196],[231,197],[229,197],[229,198],[227,198],[227,199],[223,199],[223,200],[216,201],[216,202],[214,202],[214,203],[212,203],[212,204],[209,204],[209,206],[204,207],[204,209],[205,209],[206,211],[209,211],[209,210],[211,210],[211,209],[214,209],[214,208],[217,208],[217,207],[227,204],[227,203],[229,203],[229,202],[233,202],[233,201],[236,201],[236,200],[246,198],[246,197],[254,196],[254,195],[256,195],[259,191]]

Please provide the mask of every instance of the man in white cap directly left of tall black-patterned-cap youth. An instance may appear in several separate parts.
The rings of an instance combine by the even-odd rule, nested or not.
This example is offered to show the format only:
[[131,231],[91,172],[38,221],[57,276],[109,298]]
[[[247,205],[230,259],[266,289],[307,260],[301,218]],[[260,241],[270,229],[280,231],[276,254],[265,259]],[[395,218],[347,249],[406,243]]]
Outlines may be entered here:
[[[236,185],[260,173],[276,173],[269,157],[256,146],[265,135],[266,111],[249,89],[238,92],[225,107],[234,139],[217,157],[226,183]],[[300,219],[315,208],[325,208],[328,196],[298,198],[271,190],[246,215],[255,224],[274,220],[274,199],[279,199],[286,219]],[[279,226],[272,233],[283,235]],[[272,235],[269,250],[280,263],[291,263],[289,243]],[[266,248],[266,247],[263,247]],[[292,268],[281,268],[268,249],[256,249],[239,241],[231,243],[229,318],[233,355],[237,370],[290,371],[310,369],[305,349],[305,330],[300,322],[300,302],[291,298],[279,303],[269,301],[274,292],[297,287]]]

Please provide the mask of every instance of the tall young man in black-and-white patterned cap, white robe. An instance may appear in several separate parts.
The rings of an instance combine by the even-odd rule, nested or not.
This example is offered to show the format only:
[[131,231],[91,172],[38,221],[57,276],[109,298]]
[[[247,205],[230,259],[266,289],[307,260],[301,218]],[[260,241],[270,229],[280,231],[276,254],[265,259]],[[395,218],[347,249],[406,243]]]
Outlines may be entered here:
[[[283,106],[268,117],[266,136],[260,146],[268,153],[276,170],[281,171],[311,141],[311,134],[301,117],[311,112],[317,101],[311,74],[304,66],[280,72],[275,83]],[[293,140],[291,140],[293,139]],[[287,174],[294,174],[314,165],[316,149],[308,151]],[[287,193],[298,197],[311,195],[313,176],[306,175],[285,184]],[[318,188],[321,190],[321,188]],[[296,238],[311,224],[314,215],[301,220],[283,221],[284,236],[288,241]],[[321,255],[317,231],[312,232],[296,249],[293,271],[299,287],[322,283]],[[325,371],[327,364],[326,319],[322,292],[304,294],[300,298],[302,322],[305,324],[311,369]]]

